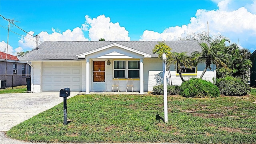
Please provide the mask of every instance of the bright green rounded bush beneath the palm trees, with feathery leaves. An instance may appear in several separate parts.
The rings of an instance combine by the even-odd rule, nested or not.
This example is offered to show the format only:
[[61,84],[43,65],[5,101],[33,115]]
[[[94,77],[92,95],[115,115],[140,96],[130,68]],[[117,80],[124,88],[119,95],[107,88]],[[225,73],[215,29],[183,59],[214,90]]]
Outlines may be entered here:
[[199,78],[192,78],[182,82],[180,95],[193,98],[214,98],[220,96],[217,86]]

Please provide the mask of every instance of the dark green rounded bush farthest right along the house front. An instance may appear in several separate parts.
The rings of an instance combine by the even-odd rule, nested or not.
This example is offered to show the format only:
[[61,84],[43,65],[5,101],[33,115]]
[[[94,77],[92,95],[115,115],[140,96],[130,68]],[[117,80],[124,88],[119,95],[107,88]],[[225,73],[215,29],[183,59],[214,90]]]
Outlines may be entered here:
[[217,82],[220,94],[225,96],[244,96],[250,93],[251,88],[248,86],[246,80],[226,76],[220,78]]

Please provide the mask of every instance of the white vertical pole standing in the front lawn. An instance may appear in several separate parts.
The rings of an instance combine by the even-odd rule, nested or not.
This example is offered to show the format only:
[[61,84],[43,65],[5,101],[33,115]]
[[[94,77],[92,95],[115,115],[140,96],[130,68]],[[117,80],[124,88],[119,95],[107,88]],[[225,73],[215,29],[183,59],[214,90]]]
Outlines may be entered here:
[[166,81],[166,54],[163,57],[163,76],[164,76],[164,122],[168,122],[168,107],[167,107],[167,81]]

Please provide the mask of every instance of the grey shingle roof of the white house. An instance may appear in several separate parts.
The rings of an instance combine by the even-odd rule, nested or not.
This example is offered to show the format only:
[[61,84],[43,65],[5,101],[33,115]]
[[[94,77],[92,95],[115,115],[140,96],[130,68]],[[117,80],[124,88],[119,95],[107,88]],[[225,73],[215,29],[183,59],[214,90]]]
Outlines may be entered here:
[[[63,41],[48,42],[45,41],[20,60],[78,60],[76,55],[90,52],[97,48],[117,43],[146,54],[152,57],[158,57],[152,54],[152,50],[160,41]],[[164,41],[174,52],[187,52],[190,55],[194,51],[201,51],[199,43],[207,41]]]

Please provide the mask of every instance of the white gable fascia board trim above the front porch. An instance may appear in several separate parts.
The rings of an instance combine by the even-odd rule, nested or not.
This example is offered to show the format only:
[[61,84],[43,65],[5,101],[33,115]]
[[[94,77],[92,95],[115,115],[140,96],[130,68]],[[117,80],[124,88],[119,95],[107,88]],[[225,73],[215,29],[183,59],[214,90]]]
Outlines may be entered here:
[[94,52],[99,52],[99,51],[101,51],[101,50],[105,50],[105,49],[110,48],[110,47],[112,47],[112,46],[117,46],[117,47],[119,47],[119,48],[123,48],[123,49],[129,50],[129,51],[131,51],[131,52],[135,52],[135,53],[137,53],[137,54],[143,55],[144,58],[151,58],[151,55],[150,55],[150,54],[146,54],[146,53],[144,53],[144,52],[140,52],[140,51],[138,51],[138,50],[134,50],[134,49],[132,49],[132,48],[128,48],[128,47],[126,47],[126,46],[123,46],[123,45],[120,45],[120,44],[117,44],[117,43],[113,43],[113,44],[104,46],[104,47],[102,47],[102,48],[98,48],[98,49],[96,49],[96,50],[91,50],[90,52],[86,52],[86,53],[83,53],[83,54],[78,54],[78,55],[76,55],[76,56],[77,56],[78,58],[85,58],[85,56],[88,55],[88,54],[92,54],[92,53],[94,53]]

